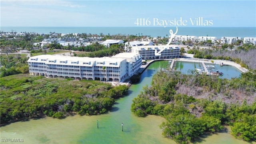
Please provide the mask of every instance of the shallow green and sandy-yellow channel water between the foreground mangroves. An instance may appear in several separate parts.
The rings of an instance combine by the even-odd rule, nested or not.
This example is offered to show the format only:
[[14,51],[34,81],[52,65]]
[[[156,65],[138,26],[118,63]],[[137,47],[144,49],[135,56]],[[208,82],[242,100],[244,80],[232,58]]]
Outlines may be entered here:
[[[23,143],[85,143],[85,144],[172,144],[173,140],[164,138],[159,125],[164,121],[160,116],[140,118],[130,112],[132,99],[143,86],[150,86],[152,76],[168,62],[154,62],[142,73],[140,83],[132,84],[126,97],[116,100],[112,111],[98,116],[68,116],[64,119],[41,118],[26,122],[15,122],[2,126],[2,138],[23,138]],[[97,121],[99,128],[97,128]],[[123,132],[122,132],[122,125]],[[241,144],[246,143],[230,135],[229,129],[218,134],[205,136],[196,143]],[[13,142],[2,142],[3,144]],[[21,142],[20,142],[21,143]]]

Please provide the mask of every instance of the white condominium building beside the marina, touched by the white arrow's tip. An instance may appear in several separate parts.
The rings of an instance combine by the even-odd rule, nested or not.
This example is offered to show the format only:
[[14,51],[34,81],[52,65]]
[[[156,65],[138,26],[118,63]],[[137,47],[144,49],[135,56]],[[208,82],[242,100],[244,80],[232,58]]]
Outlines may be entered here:
[[139,53],[143,60],[170,59],[180,57],[178,46],[133,46],[133,53]]

